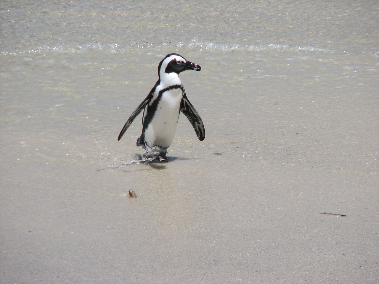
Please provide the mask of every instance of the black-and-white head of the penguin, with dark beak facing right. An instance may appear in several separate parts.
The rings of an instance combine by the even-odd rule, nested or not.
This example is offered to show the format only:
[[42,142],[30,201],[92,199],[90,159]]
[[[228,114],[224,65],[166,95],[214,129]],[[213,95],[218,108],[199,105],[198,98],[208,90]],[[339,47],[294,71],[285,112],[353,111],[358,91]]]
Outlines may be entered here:
[[185,70],[195,70],[200,71],[201,67],[197,64],[187,61],[183,56],[177,53],[170,53],[166,55],[158,66],[159,77],[164,76],[164,74],[177,73]]

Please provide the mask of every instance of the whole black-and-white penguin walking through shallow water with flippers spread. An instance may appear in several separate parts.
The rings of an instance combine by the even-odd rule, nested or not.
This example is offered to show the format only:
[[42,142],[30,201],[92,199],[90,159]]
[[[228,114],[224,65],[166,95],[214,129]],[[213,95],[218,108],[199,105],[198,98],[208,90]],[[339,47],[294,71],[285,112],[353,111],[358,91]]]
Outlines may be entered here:
[[142,134],[137,140],[137,146],[146,150],[145,156],[151,152],[153,147],[157,147],[160,150],[159,157],[167,159],[167,149],[174,140],[180,111],[191,122],[197,138],[200,141],[204,140],[204,124],[199,113],[188,100],[179,78],[179,73],[185,70],[200,71],[201,67],[176,53],[170,53],[163,58],[158,66],[157,83],[130,115],[117,140],[121,139],[142,110],[144,110]]

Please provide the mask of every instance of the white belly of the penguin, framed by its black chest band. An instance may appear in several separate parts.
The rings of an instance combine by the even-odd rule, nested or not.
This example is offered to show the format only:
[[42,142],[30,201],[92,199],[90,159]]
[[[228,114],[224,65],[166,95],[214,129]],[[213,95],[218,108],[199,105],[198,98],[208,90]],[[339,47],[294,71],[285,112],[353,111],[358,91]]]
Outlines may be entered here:
[[146,129],[145,141],[151,147],[168,148],[174,140],[178,124],[182,89],[171,89],[163,92],[151,124]]

